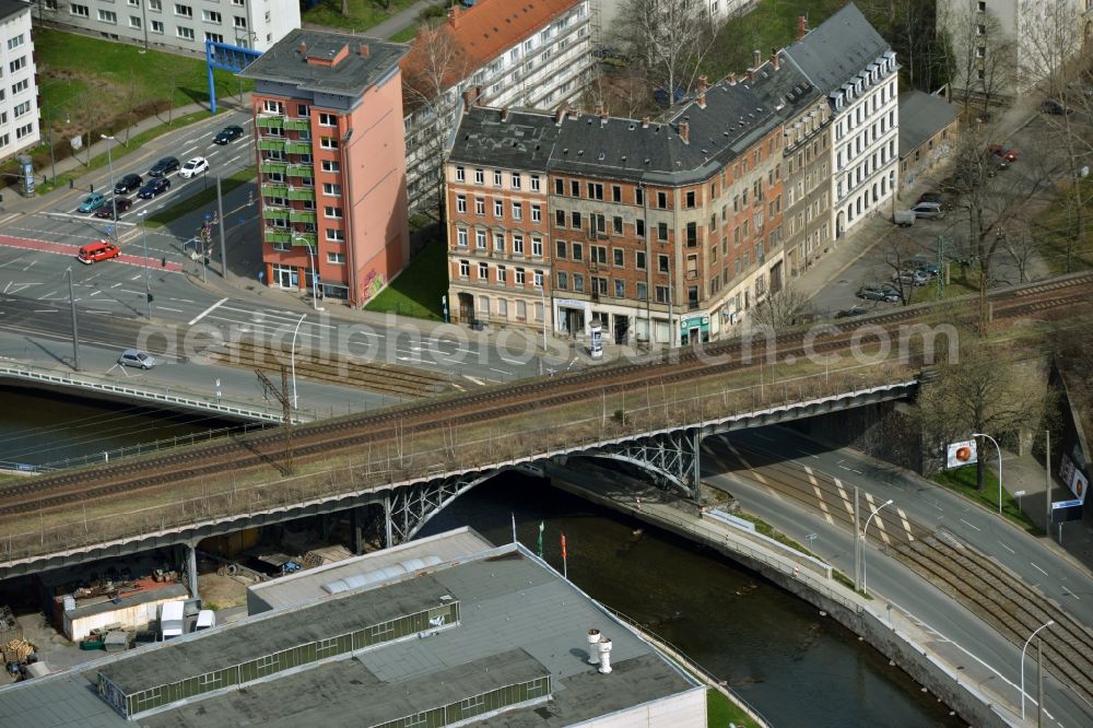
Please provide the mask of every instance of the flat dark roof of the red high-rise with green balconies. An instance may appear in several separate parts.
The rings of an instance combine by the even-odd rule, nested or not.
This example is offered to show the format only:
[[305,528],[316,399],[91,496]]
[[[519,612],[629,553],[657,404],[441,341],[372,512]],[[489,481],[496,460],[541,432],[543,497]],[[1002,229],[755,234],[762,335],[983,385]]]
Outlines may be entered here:
[[[367,46],[368,54],[361,54]],[[307,62],[348,54],[334,66]],[[294,84],[303,91],[360,96],[398,67],[410,47],[349,33],[296,28],[239,73],[245,79]]]

